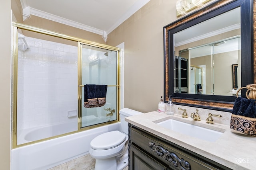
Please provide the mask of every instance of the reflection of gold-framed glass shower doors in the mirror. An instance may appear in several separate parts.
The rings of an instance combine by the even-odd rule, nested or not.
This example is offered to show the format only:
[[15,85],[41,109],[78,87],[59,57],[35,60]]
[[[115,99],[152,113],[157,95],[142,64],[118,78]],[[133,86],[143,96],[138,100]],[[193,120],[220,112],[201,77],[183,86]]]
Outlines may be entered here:
[[[179,55],[191,68],[188,70],[188,93],[232,96],[233,64],[241,64],[240,54],[239,35],[179,50]],[[240,86],[241,72],[236,73],[236,84]]]

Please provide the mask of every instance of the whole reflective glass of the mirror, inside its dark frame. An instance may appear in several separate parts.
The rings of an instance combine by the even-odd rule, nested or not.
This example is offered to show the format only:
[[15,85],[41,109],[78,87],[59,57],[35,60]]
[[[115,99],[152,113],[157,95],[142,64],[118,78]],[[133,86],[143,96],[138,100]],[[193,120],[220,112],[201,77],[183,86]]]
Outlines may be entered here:
[[174,92],[236,94],[241,87],[240,34],[240,7],[175,33]]

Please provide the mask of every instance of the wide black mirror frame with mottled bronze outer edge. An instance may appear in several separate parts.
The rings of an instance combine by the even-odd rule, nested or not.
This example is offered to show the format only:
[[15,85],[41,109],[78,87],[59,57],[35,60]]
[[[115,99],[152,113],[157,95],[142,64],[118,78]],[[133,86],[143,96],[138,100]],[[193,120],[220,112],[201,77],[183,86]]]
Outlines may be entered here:
[[[174,103],[179,105],[186,105],[186,106],[192,106],[192,107],[200,107],[200,108],[207,108],[207,109],[214,109],[214,110],[221,110],[221,111],[232,111],[232,107],[234,104],[234,101],[236,99],[236,96],[227,96],[224,95],[216,95],[216,94],[191,94],[187,90],[183,92],[177,92],[177,84],[176,83],[176,62],[175,58],[177,58],[176,54],[177,52],[177,45],[176,45],[176,39],[175,36],[180,33],[183,30],[195,27],[195,25],[203,23],[204,21],[211,20],[212,18],[215,18],[222,14],[226,14],[232,10],[236,10],[240,13],[240,42],[238,43],[240,45],[240,49],[238,53],[240,53],[240,59],[239,61],[239,67],[240,70],[238,72],[238,75],[240,74],[240,84],[238,83],[238,87],[244,87],[247,84],[253,84],[254,83],[254,70],[253,70],[253,0],[218,0],[215,1],[212,4],[209,4],[208,6],[205,6],[204,8],[189,14],[187,16],[184,16],[183,18],[170,23],[166,26],[164,26],[164,99],[167,101],[168,96],[172,96],[172,99]],[[216,25],[224,25],[225,22],[216,24]],[[209,25],[209,24],[208,24]],[[215,25],[212,25],[214,27]],[[201,33],[204,31],[200,30]],[[190,34],[194,34],[193,31],[188,31]],[[183,34],[183,33],[182,33]],[[211,38],[211,37],[210,37]],[[225,38],[223,38],[225,39]],[[222,41],[221,41],[222,42]],[[214,44],[218,44],[220,41],[216,40],[213,42]],[[210,43],[211,45],[211,43]],[[184,46],[186,47],[186,46]],[[186,49],[186,48],[185,48]],[[188,48],[190,49],[190,47]],[[181,50],[182,51],[182,50]],[[213,55],[211,55],[213,56]],[[182,56],[180,56],[182,57]],[[184,57],[183,57],[184,58]],[[237,62],[237,61],[235,61]],[[223,62],[225,63],[225,62]],[[188,60],[187,63],[187,74],[189,75],[190,72],[188,70],[191,70],[190,68],[192,64],[190,64],[190,60]],[[194,65],[194,63],[193,63]],[[232,64],[230,64],[232,65]],[[230,67],[228,68],[230,70]],[[183,70],[184,71],[184,70]],[[215,72],[218,71],[218,69],[214,70]],[[212,71],[212,72],[214,72]],[[232,74],[232,70],[230,70],[230,74]],[[223,75],[226,72],[223,72]],[[213,75],[214,73],[212,73]],[[230,77],[230,89],[233,88],[232,79]],[[220,77],[220,80],[224,80],[225,77]],[[189,84],[190,78],[187,78],[187,84]],[[184,81],[184,80],[183,80]],[[216,82],[214,84],[213,78],[211,79],[212,86],[214,89],[216,87]],[[205,86],[205,84],[201,84],[202,89]],[[206,84],[207,85],[207,84]],[[221,88],[221,86],[220,86]],[[204,92],[204,90],[202,90]],[[242,97],[245,96],[245,92],[242,91]]]

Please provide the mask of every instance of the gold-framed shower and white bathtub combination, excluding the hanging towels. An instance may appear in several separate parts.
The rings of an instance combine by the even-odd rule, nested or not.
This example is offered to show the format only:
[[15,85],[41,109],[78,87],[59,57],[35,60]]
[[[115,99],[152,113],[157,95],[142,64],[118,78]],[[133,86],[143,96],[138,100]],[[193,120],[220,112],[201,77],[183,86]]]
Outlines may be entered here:
[[[14,169],[52,168],[88,154],[90,141],[101,133],[119,130],[118,47],[90,44],[22,23],[13,26]],[[26,37],[22,30],[26,30]],[[38,39],[35,32],[53,35],[54,40]],[[93,54],[98,58],[90,60]],[[104,107],[82,106],[82,86],[86,84],[108,85]],[[47,157],[49,152],[53,155]]]

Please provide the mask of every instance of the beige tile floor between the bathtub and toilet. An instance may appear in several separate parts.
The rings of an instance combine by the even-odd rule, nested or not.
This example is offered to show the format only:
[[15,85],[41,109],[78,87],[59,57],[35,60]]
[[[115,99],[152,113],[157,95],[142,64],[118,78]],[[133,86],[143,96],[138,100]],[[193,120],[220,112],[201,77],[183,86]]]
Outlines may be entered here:
[[[87,154],[77,159],[70,160],[64,164],[50,168],[49,170],[94,170],[94,166],[95,159],[92,158],[90,154]],[[128,170],[128,166],[126,166],[124,170]]]

